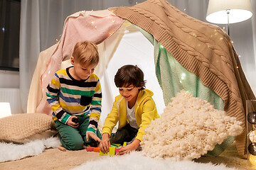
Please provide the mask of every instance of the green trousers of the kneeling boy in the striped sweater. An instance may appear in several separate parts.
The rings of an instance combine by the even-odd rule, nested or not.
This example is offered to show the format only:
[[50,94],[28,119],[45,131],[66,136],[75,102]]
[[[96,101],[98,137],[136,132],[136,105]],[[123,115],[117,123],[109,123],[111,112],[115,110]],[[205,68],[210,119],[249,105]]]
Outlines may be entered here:
[[[77,116],[79,119],[78,128],[73,128],[69,125],[61,123],[59,120],[55,120],[55,127],[60,133],[60,142],[68,150],[80,150],[83,148],[83,145],[90,145],[92,139],[86,140],[86,131],[89,125],[90,116],[83,115]],[[97,137],[100,139],[102,135],[97,129]]]

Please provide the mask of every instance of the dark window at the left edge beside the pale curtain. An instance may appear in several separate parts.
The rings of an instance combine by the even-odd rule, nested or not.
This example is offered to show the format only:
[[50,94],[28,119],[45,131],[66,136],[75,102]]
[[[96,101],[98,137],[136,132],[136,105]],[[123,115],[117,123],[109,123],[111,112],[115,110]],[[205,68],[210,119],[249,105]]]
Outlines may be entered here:
[[18,71],[21,0],[0,1],[0,69]]

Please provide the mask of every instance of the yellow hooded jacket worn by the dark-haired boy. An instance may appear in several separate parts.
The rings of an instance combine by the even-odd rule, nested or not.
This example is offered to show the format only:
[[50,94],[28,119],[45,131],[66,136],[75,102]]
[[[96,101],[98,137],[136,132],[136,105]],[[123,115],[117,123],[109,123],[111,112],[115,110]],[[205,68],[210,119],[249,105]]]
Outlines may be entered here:
[[[142,136],[145,134],[144,130],[149,126],[151,120],[160,118],[156,111],[156,103],[154,102],[153,92],[149,89],[139,91],[137,101],[134,106],[135,118],[139,130],[136,139],[142,141]],[[115,97],[112,110],[107,115],[105,123],[102,128],[102,134],[107,132],[111,134],[115,125],[119,121],[118,130],[123,128],[129,121],[127,120],[127,104],[123,96],[119,95]]]

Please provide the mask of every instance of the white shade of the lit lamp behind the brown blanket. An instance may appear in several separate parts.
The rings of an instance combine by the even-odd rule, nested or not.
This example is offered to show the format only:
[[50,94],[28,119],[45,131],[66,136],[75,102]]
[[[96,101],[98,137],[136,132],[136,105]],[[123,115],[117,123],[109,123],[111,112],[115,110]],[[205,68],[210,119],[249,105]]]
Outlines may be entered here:
[[206,21],[220,24],[238,23],[251,16],[250,0],[209,0]]

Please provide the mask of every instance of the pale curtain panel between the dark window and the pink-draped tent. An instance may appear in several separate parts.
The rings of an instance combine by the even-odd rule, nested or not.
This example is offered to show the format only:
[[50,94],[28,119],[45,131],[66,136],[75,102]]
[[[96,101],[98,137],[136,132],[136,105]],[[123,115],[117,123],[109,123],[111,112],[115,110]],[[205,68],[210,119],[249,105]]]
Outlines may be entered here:
[[38,1],[21,1],[20,24],[20,93],[21,107],[26,113],[26,101],[40,52]]

